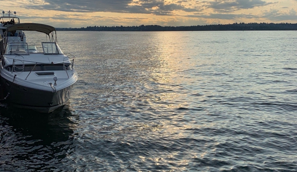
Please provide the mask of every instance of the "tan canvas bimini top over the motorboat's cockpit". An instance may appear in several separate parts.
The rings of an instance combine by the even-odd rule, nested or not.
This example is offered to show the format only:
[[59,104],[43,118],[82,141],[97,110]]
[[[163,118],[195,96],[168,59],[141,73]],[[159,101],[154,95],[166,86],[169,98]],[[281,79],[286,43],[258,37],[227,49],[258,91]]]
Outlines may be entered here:
[[51,32],[56,31],[53,26],[40,23],[19,23],[8,26],[6,32],[16,31],[16,30],[27,30],[27,31],[37,31],[49,35]]

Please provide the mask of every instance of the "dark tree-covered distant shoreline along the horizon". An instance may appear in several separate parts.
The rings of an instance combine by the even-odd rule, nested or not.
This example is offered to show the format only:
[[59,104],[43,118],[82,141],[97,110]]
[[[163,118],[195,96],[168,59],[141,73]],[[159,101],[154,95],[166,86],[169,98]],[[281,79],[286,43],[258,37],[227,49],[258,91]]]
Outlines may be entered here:
[[82,28],[56,28],[58,31],[249,31],[297,30],[297,23],[233,23],[197,26],[88,26]]

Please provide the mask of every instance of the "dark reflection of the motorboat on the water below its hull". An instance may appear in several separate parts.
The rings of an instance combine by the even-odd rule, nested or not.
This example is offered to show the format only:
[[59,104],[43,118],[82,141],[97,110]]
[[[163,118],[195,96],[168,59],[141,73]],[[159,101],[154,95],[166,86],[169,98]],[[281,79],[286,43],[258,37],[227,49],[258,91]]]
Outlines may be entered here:
[[[66,105],[59,113],[40,114],[30,110],[0,109],[0,169],[53,171],[71,168],[67,158],[74,151],[76,124]],[[67,171],[73,169],[67,169]]]

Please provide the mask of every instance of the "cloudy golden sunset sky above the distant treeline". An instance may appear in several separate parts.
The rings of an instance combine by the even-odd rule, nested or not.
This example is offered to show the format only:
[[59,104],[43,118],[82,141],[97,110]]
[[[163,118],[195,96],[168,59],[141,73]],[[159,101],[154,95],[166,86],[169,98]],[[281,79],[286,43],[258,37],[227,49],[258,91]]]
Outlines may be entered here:
[[21,23],[54,27],[297,23],[297,0],[0,0]]

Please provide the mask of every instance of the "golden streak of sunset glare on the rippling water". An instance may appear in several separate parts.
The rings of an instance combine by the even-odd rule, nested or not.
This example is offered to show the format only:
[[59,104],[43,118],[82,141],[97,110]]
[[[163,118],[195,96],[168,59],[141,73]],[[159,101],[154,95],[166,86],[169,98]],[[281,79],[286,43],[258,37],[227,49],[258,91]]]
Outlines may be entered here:
[[[189,59],[185,57],[187,50],[181,48],[186,47],[186,45],[180,46],[180,44],[186,44],[186,42],[178,42],[178,40],[182,39],[178,32],[156,32],[155,34],[157,41],[153,43],[157,44],[156,54],[160,66],[153,68],[150,74],[151,80],[156,83],[153,87],[158,87],[158,90],[164,91],[155,95],[154,100],[148,101],[153,101],[152,106],[158,105],[162,109],[186,108],[186,95],[178,91],[178,89],[183,89],[182,84],[193,82],[190,77],[185,78],[183,74],[184,70],[192,66]],[[152,87],[152,85],[148,85],[148,87]],[[153,87],[149,89],[155,89]],[[175,100],[180,100],[178,105],[171,104]]]

